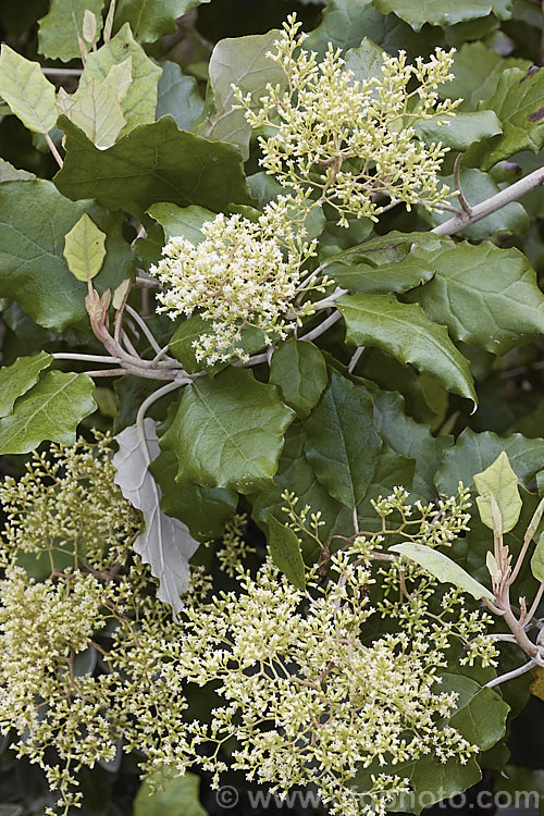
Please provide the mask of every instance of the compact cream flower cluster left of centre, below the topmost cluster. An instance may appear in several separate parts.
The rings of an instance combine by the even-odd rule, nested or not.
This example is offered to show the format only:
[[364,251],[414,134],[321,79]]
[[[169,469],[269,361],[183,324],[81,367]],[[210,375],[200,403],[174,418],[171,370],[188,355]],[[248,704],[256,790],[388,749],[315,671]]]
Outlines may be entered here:
[[298,309],[301,265],[314,255],[302,224],[293,225],[287,198],[269,205],[257,221],[223,213],[201,226],[203,240],[173,237],[163,259],[151,267],[165,287],[159,311],[173,320],[195,311],[210,331],[194,342],[197,360],[208,364],[247,359],[240,347],[244,326],[262,331],[264,343],[282,338],[311,305]]

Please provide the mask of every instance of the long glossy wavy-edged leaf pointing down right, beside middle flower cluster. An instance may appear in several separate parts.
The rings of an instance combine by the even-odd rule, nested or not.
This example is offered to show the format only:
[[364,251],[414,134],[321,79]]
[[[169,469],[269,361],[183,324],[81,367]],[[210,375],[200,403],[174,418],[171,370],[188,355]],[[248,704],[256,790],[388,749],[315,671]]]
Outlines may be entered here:
[[443,325],[416,305],[388,295],[344,295],[336,305],[346,321],[346,338],[356,346],[378,346],[434,376],[447,391],[477,403],[468,360]]

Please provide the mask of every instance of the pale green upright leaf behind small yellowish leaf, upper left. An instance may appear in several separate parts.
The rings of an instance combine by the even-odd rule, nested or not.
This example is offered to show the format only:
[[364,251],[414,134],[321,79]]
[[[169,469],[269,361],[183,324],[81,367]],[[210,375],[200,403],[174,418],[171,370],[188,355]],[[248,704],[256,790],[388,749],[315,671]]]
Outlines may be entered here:
[[[126,94],[120,99],[123,115],[126,120],[121,136],[126,136],[137,125],[154,122],[157,88],[161,76],[161,69],[149,59],[141,46],[136,42],[128,25],[124,25],[98,51],[89,53],[77,92],[74,95],[74,98],[78,99],[92,79],[104,83],[111,70],[125,63],[128,58],[131,59],[132,83]],[[118,90],[118,88],[113,87],[112,90]]]

